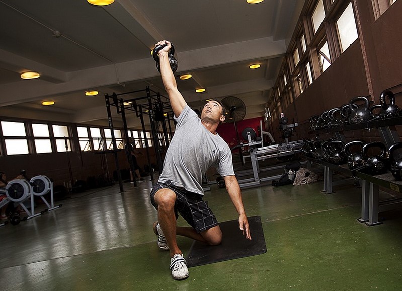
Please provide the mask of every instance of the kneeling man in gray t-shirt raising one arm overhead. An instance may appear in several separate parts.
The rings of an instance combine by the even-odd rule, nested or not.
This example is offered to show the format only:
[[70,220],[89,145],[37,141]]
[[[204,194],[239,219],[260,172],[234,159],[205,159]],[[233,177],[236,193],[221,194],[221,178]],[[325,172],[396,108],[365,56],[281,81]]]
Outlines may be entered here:
[[[203,200],[202,179],[209,167],[216,167],[223,177],[227,192],[238,212],[239,228],[251,240],[249,223],[244,210],[242,195],[234,176],[232,157],[227,143],[216,133],[224,121],[224,108],[217,100],[207,102],[201,118],[186,104],[177,89],[175,76],[169,65],[169,41],[156,45],[166,46],[159,51],[160,74],[168,93],[177,121],[175,134],[166,153],[163,171],[153,187],[150,198],[158,210],[159,222],[153,224],[158,236],[158,246],[170,250],[172,276],[181,280],[189,276],[186,261],[176,241],[176,235],[186,236],[209,245],[219,245],[222,232]],[[178,227],[177,213],[191,225]]]

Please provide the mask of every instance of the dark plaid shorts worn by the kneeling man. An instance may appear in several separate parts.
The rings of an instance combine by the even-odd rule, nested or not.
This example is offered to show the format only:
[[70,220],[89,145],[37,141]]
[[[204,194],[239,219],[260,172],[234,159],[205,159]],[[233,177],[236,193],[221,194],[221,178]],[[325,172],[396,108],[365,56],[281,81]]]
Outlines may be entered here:
[[207,201],[204,201],[203,195],[189,192],[182,187],[176,187],[171,181],[165,183],[156,183],[150,193],[150,199],[153,207],[157,210],[155,203],[155,193],[162,189],[168,188],[176,193],[175,215],[176,219],[179,217],[178,213],[191,225],[197,233],[206,231],[218,225],[215,215],[208,207]]

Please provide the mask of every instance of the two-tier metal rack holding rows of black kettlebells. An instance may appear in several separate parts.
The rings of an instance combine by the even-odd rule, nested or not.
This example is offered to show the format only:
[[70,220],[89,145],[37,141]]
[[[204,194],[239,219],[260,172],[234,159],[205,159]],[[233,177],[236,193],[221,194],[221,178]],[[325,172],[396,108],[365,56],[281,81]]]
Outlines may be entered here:
[[[319,137],[319,134],[334,134],[338,140],[345,140],[345,131],[351,130],[375,130],[377,129],[386,148],[400,141],[395,126],[402,125],[402,117],[393,117],[387,119],[374,119],[367,122],[358,124],[344,125],[326,129],[318,129],[309,134],[315,134]],[[380,201],[379,188],[384,187],[386,189],[402,193],[402,182],[396,181],[390,172],[381,175],[369,175],[364,173],[364,168],[360,167],[354,170],[350,170],[346,165],[335,165],[324,161],[322,159],[314,159],[308,156],[304,156],[304,159],[308,162],[308,167],[311,163],[316,163],[324,166],[324,185],[323,192],[326,194],[333,192],[333,174],[337,172],[343,176],[351,177],[355,180],[362,181],[362,200],[361,200],[361,217],[359,222],[365,223],[368,226],[374,226],[382,224],[378,219],[378,213],[393,209],[402,208],[402,198],[394,198]]]

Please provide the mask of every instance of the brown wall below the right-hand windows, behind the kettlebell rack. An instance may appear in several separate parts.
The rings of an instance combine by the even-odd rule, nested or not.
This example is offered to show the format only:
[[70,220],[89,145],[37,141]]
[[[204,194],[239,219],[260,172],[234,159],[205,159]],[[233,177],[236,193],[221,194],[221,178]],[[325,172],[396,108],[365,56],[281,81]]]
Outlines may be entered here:
[[[402,2],[395,2],[377,20],[373,16],[371,0],[356,0],[356,5],[361,28],[358,39],[297,97],[294,101],[296,112],[294,108],[285,110],[288,117],[297,116],[299,139],[311,137],[308,133],[311,115],[340,107],[357,96],[372,93],[371,100],[378,104],[380,93],[391,89],[396,104],[402,105]],[[378,133],[358,130],[345,132],[345,137],[370,140],[378,139]]]

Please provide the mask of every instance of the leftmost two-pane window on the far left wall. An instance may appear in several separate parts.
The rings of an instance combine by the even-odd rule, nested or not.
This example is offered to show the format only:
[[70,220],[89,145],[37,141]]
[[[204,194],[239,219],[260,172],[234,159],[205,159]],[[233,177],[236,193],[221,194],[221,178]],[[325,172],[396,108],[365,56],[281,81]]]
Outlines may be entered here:
[[28,140],[26,138],[18,138],[27,136],[24,122],[2,121],[1,126],[3,136],[6,137],[4,142],[6,144],[7,155],[29,154]]

